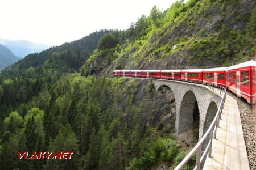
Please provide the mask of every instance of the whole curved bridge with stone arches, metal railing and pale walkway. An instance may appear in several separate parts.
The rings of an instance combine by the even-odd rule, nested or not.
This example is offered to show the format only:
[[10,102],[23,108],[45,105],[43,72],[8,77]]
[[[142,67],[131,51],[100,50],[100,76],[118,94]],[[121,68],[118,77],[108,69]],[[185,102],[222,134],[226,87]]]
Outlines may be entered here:
[[147,79],[151,80],[156,90],[168,87],[172,91],[176,108],[176,135],[195,123],[199,124],[199,142],[175,169],[182,169],[193,155],[196,155],[194,169],[203,168],[204,162],[204,169],[249,169],[237,102],[226,95],[224,88],[176,80]]

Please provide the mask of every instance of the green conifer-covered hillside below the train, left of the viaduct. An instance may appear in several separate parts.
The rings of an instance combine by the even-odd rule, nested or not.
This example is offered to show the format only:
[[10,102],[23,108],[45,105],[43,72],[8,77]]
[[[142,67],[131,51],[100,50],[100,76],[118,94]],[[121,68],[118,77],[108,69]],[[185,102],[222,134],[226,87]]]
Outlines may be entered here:
[[[1,169],[148,169],[175,167],[184,158],[172,134],[173,96],[147,80],[48,74],[28,78],[36,85],[27,98],[26,88],[15,92],[16,81],[5,82],[9,94],[6,87],[1,94],[10,112],[1,123]],[[16,151],[75,154],[45,162],[18,160]]]

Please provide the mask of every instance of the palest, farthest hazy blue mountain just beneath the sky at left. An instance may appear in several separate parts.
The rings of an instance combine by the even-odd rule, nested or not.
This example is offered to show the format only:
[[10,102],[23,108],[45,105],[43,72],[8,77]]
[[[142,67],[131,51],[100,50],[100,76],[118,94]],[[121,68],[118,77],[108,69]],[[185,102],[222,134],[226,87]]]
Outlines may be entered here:
[[38,44],[26,40],[5,40],[0,38],[0,44],[7,46],[16,56],[25,57],[27,54],[42,52],[51,45]]

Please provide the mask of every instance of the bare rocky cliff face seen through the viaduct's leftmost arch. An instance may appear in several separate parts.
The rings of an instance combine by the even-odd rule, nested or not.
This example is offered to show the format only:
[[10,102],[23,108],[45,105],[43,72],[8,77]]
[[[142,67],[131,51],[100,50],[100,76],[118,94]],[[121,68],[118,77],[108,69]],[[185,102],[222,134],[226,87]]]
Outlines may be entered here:
[[[150,121],[152,126],[161,124],[162,128],[160,130],[169,129],[170,133],[174,133],[176,109],[174,95],[170,88],[163,87],[156,91],[150,80],[135,79],[135,82],[138,83],[138,86],[134,93],[134,104],[139,107],[139,103],[143,99],[149,100],[148,103],[151,103],[149,107],[152,109],[152,119]],[[146,97],[148,94],[150,94],[149,98]],[[126,101],[121,101],[120,105],[125,108]]]

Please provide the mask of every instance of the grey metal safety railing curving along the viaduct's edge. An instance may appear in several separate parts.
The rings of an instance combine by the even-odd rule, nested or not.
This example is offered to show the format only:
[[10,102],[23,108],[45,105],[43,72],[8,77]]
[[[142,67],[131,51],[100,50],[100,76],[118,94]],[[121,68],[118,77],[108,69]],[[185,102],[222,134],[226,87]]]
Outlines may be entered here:
[[[112,75],[110,75],[112,76]],[[154,78],[149,78],[149,79],[154,79]],[[161,80],[169,80],[169,79],[161,79]],[[205,84],[201,82],[191,82],[191,81],[183,81],[183,80],[178,80],[182,82],[189,82],[189,83],[196,83],[196,84],[201,84],[205,88],[208,88],[211,91],[216,92],[220,96],[222,96],[221,103],[218,107],[218,111],[216,112],[216,116],[214,117],[212,124],[210,124],[210,127],[208,130],[205,132],[203,137],[200,139],[199,142],[197,142],[196,146],[192,148],[192,150],[189,152],[189,154],[177,165],[175,170],[179,170],[184,167],[184,165],[192,158],[193,155],[196,154],[196,166],[194,168],[197,170],[200,170],[201,162],[203,162],[204,157],[208,154],[209,157],[212,157],[212,141],[213,138],[216,139],[216,133],[217,133],[217,127],[219,127],[219,122],[221,118],[221,113],[222,109],[224,107],[224,103],[226,100],[226,88],[220,87],[220,86],[215,86],[214,84]],[[209,142],[207,143],[207,147],[203,151],[203,154],[201,154],[201,147],[205,140],[209,137]]]

